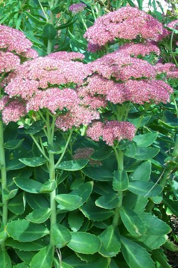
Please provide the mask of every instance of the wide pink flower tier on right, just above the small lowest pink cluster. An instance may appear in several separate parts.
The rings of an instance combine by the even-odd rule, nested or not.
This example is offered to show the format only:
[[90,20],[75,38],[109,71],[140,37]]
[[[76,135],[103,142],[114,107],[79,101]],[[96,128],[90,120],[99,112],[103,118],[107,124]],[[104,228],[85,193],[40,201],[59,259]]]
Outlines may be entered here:
[[[107,101],[114,104],[122,104],[126,101],[137,104],[145,102],[166,103],[169,101],[170,93],[172,93],[172,88],[167,83],[155,79],[130,79],[125,83],[115,83],[113,80],[93,75],[88,78],[87,83],[86,86],[78,89],[78,95],[82,99],[83,105],[89,105],[89,98],[99,98],[100,107],[105,107]],[[96,108],[98,107],[96,106]]]

